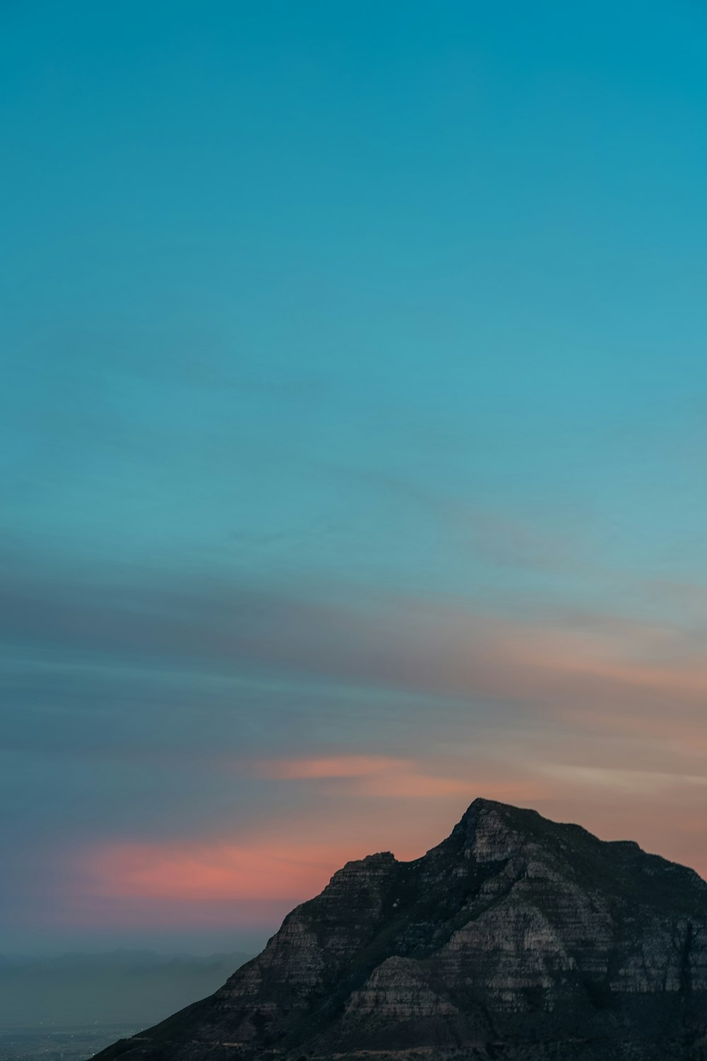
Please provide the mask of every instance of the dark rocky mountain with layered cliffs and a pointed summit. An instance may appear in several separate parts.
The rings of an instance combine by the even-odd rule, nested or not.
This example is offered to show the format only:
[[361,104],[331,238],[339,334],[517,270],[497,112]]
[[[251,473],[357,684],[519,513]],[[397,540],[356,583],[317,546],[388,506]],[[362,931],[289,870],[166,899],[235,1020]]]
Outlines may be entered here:
[[707,884],[475,800],[422,858],[348,863],[122,1061],[707,1061]]

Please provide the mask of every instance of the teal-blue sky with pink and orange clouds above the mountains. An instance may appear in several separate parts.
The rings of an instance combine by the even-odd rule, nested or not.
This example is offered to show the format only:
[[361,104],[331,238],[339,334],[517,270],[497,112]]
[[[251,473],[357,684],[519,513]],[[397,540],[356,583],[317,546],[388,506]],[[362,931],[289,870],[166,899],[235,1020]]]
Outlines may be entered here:
[[707,875],[707,7],[0,4],[0,951],[477,796]]

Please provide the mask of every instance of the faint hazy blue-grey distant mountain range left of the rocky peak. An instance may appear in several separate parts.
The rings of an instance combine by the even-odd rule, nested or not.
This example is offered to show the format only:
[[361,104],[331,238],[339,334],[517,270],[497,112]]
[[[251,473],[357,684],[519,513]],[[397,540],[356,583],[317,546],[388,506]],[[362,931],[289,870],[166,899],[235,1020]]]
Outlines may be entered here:
[[214,991],[249,958],[238,953],[200,958],[151,951],[0,956],[0,1027],[152,1024]]

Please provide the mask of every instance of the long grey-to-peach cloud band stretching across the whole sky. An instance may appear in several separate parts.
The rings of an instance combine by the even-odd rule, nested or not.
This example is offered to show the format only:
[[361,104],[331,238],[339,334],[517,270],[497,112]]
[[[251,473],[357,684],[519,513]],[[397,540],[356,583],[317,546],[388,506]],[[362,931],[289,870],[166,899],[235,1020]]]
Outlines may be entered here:
[[[90,581],[2,572],[0,632],[36,651],[153,667],[215,666],[300,674],[439,696],[551,702],[632,693],[650,705],[707,692],[702,642],[679,628],[576,618],[560,625],[474,611],[460,602],[320,585],[264,590],[214,576]],[[36,571],[36,569],[35,569]],[[341,603],[343,601],[344,603]]]

